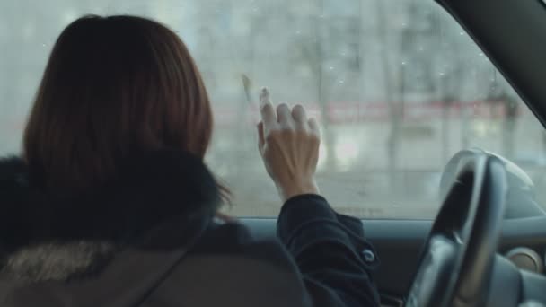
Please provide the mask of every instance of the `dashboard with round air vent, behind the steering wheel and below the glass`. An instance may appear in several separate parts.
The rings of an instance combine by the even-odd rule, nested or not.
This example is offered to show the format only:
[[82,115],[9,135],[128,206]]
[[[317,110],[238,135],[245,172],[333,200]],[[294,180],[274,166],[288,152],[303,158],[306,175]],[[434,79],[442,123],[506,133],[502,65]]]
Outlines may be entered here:
[[[457,161],[462,159],[464,157],[461,155],[454,157],[445,168],[442,182],[449,181],[450,174],[457,171]],[[506,297],[511,292],[514,295],[523,294],[524,297],[537,297],[543,293],[545,297],[540,302],[546,302],[546,291],[543,291],[546,289],[546,213],[534,197],[533,181],[514,163],[506,159],[504,161],[508,180],[506,212],[496,257],[495,266],[498,269],[495,274],[498,276],[493,277],[491,287],[495,291],[504,291],[504,295],[499,297]],[[241,222],[251,229],[257,239],[276,235],[276,219],[243,218]],[[383,306],[403,305],[403,297],[409,293],[421,250],[433,222],[362,220],[365,237],[374,244],[381,260],[381,265],[372,275],[382,296]],[[520,283],[520,286],[515,283]],[[506,305],[506,302],[498,306],[502,305]]]

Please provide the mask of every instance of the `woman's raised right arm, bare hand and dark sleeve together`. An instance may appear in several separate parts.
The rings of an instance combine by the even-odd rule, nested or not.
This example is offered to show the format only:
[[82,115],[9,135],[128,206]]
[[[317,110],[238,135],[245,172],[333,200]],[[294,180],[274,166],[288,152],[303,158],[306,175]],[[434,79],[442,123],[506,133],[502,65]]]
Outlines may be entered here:
[[[260,154],[285,201],[277,234],[295,258],[315,306],[379,306],[365,261],[360,221],[336,214],[319,196],[314,174],[319,158],[320,129],[302,106],[273,109],[269,92],[260,93]],[[369,256],[369,252],[368,252]],[[375,256],[374,256],[375,258]]]

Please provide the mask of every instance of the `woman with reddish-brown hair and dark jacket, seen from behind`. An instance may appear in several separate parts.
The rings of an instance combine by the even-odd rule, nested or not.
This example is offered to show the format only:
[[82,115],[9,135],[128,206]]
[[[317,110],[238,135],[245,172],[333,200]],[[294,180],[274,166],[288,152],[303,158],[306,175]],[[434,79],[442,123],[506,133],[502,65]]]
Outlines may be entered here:
[[70,24],[22,157],[0,162],[1,305],[377,306],[360,221],[314,180],[316,122],[260,100],[260,153],[285,203],[269,241],[214,219],[229,191],[203,163],[213,118],[181,39],[131,16]]

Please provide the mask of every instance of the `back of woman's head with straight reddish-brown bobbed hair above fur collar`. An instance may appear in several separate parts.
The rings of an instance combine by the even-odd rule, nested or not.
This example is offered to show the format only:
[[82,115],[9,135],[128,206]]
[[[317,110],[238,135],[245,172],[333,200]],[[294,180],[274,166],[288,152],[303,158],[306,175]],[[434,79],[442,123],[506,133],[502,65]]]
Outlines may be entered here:
[[203,158],[213,118],[197,66],[162,24],[85,16],[57,39],[26,127],[23,156],[50,189],[108,180],[130,152]]

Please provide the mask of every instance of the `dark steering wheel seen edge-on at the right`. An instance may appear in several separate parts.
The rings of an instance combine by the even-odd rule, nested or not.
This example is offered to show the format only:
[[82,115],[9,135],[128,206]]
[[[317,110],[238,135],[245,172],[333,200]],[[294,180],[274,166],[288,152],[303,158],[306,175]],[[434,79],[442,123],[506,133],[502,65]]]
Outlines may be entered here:
[[487,302],[506,203],[506,171],[488,153],[462,153],[421,254],[407,307]]

